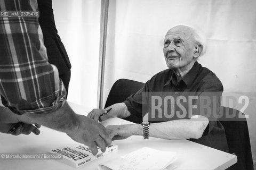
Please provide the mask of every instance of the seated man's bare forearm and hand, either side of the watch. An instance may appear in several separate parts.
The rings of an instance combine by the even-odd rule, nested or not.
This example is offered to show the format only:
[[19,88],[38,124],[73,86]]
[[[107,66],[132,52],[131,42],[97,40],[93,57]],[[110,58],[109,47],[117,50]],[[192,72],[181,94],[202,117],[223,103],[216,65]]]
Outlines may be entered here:
[[[151,123],[149,126],[149,137],[163,139],[198,139],[209,123],[206,117],[191,118],[190,120],[174,120],[162,123]],[[127,124],[111,126],[112,135],[130,137],[131,135],[143,135],[141,124]],[[122,139],[122,138],[121,138]]]

